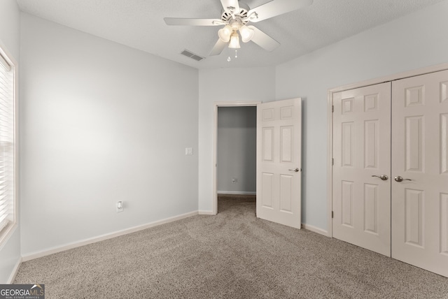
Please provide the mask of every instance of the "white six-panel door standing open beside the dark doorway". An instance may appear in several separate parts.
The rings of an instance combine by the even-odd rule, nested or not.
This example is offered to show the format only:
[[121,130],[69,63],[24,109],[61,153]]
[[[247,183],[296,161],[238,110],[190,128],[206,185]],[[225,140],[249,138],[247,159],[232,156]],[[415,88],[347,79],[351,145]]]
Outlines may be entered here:
[[302,101],[257,106],[257,217],[300,228]]

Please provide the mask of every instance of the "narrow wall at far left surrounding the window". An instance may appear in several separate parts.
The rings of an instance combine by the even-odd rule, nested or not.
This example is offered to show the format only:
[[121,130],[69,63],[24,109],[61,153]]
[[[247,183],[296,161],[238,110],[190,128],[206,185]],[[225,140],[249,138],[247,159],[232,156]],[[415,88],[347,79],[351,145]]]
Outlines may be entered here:
[[[0,43],[20,65],[20,11],[15,0],[0,1]],[[19,180],[17,184],[19,185]],[[20,198],[19,189],[16,195]],[[20,200],[18,205],[20,207]],[[20,221],[20,215],[18,215],[18,221]],[[9,282],[10,275],[19,262],[20,226],[15,229],[7,242],[0,246],[0,284]]]

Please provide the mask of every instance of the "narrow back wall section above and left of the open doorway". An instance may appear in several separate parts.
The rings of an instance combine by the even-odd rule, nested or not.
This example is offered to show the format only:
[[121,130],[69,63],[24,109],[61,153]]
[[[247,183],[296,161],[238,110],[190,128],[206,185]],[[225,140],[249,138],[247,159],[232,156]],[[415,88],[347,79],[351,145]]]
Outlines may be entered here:
[[214,103],[273,101],[275,72],[266,68],[220,68],[199,72],[199,210],[213,210]]

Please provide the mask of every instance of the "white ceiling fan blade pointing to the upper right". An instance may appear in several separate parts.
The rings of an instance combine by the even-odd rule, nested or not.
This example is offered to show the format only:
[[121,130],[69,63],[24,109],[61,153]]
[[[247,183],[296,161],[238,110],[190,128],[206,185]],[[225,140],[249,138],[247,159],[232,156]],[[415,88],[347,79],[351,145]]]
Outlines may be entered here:
[[[276,17],[277,15],[283,15],[283,13],[289,13],[304,6],[309,6],[312,3],[313,0],[273,0],[249,10],[247,15],[250,17],[249,20],[251,22],[260,22],[269,19],[269,17]],[[255,15],[251,17],[253,13],[255,13],[256,17]]]

